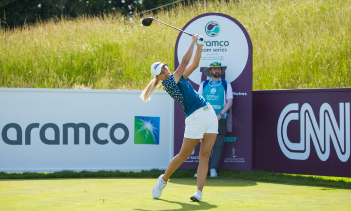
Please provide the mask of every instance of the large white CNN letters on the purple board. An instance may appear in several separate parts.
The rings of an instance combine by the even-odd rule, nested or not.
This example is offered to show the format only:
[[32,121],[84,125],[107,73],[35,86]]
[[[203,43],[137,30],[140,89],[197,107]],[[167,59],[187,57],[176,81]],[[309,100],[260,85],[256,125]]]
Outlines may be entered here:
[[[291,121],[299,121],[300,140],[291,142],[287,129]],[[331,143],[340,161],[346,162],[350,157],[350,103],[339,103],[339,122],[328,103],[319,109],[319,124],[312,107],[305,103],[299,109],[292,103],[282,110],[277,126],[279,147],[285,156],[293,160],[306,160],[310,156],[311,142],[321,161],[329,158]]]

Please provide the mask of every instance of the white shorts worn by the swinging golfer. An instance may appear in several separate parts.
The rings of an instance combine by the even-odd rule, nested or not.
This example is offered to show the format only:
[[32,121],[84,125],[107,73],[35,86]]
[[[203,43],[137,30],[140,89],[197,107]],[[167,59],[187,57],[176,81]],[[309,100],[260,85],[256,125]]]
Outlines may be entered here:
[[204,133],[218,134],[218,120],[211,105],[195,110],[185,118],[185,138],[202,139]]

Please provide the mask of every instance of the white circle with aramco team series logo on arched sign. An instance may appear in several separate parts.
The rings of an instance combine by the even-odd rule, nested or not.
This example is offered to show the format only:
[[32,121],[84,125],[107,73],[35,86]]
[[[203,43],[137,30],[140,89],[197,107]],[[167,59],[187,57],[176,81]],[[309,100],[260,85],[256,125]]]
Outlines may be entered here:
[[[225,80],[229,83],[232,83],[243,72],[249,58],[249,44],[243,29],[232,19],[219,13],[204,14],[203,17],[188,23],[183,30],[200,34],[204,38],[199,67],[189,76],[189,79],[195,84],[201,83],[200,67],[208,67],[213,62],[228,66],[229,69],[225,72]],[[189,35],[180,33],[176,51],[177,63],[180,63],[184,52],[189,47],[189,43]],[[195,51],[196,47],[192,60]]]

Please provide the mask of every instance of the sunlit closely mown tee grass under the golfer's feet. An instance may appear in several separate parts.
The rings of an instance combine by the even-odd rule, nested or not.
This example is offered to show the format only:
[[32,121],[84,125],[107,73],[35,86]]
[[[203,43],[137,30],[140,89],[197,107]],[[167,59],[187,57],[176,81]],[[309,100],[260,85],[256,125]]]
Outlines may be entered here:
[[0,180],[2,211],[349,211],[351,190],[208,178],[192,202],[195,178],[172,178],[160,199],[156,178]]

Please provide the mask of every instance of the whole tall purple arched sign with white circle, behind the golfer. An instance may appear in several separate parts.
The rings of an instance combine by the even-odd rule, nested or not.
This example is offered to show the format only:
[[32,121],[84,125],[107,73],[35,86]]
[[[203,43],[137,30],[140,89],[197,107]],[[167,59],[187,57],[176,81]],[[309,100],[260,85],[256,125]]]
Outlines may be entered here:
[[[204,37],[199,67],[187,79],[197,91],[201,81],[206,80],[203,70],[210,63],[220,62],[227,66],[222,78],[233,88],[233,106],[228,114],[228,132],[220,169],[252,169],[252,70],[253,48],[249,34],[233,17],[222,13],[206,13],[189,21],[184,31]],[[175,69],[190,43],[190,36],[180,33],[175,47]],[[193,56],[195,54],[195,49]],[[190,62],[191,63],[191,62]],[[174,154],[181,148],[185,115],[181,105],[175,102]],[[197,168],[199,144],[180,168]]]

